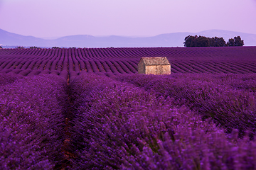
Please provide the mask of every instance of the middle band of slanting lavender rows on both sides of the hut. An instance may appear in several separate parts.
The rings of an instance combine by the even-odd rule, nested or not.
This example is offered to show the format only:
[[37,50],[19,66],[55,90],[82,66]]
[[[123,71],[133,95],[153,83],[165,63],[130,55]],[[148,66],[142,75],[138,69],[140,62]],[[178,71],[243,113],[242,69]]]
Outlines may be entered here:
[[[2,64],[1,64],[2,63]],[[75,57],[60,57],[54,60],[6,60],[1,69],[28,69],[50,72],[112,72],[120,74],[137,73],[137,61],[129,60],[76,60]],[[1,71],[0,71],[1,72]],[[36,71],[35,71],[36,72]],[[171,73],[213,73],[252,74],[256,73],[255,62],[213,62],[213,61],[171,61]]]

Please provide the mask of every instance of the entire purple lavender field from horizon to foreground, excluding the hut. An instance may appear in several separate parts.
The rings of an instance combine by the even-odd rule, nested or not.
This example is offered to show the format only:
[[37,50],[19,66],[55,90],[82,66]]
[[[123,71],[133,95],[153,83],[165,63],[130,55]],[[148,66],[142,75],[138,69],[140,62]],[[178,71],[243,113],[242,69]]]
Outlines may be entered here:
[[256,169],[256,47],[0,49],[0,91],[0,169]]

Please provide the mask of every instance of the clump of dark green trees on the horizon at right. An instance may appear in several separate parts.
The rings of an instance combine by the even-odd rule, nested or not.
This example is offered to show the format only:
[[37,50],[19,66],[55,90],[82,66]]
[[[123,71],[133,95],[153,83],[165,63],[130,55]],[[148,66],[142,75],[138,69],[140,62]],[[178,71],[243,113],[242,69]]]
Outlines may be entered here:
[[207,38],[199,35],[199,37],[188,35],[183,42],[185,47],[230,47],[230,46],[243,46],[244,41],[240,36],[230,38],[228,42],[225,42],[224,38]]

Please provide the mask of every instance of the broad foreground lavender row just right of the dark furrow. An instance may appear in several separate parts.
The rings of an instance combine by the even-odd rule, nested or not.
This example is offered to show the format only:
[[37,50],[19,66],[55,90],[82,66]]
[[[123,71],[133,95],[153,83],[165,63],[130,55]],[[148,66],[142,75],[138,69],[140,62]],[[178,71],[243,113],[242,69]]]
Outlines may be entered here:
[[[145,77],[119,79],[146,86]],[[153,76],[147,81],[154,79],[169,82]],[[226,135],[212,121],[174,107],[175,98],[159,96],[163,88],[154,90],[96,74],[74,79],[71,169],[256,168],[256,143],[248,133],[242,139],[238,130]]]

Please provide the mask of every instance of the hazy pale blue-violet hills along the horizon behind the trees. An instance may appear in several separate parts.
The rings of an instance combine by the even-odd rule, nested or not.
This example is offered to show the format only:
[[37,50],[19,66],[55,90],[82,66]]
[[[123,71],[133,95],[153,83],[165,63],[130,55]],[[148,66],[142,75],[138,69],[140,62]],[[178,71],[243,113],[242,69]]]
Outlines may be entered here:
[[225,41],[240,36],[245,46],[256,46],[256,34],[238,33],[228,30],[205,30],[199,33],[166,33],[152,37],[124,37],[92,35],[70,35],[55,40],[46,40],[33,36],[18,35],[0,29],[0,45],[36,46],[36,47],[183,47],[184,38],[188,35],[203,35],[206,37],[223,37]]

